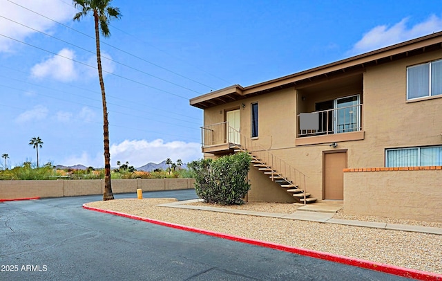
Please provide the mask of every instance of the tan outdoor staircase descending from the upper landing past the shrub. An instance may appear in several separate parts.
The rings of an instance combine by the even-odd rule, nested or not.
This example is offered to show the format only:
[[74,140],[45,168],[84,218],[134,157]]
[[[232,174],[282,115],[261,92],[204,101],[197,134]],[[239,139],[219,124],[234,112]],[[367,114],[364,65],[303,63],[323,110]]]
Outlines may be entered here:
[[[242,145],[236,144],[231,144],[231,148],[234,149],[234,152],[249,153],[252,157],[251,163],[253,164],[253,167],[258,169],[258,171],[262,172],[266,176],[269,176],[269,179],[271,181],[278,183],[282,190],[290,194],[290,196],[293,197],[298,203],[307,204],[316,202],[316,198],[311,197],[311,194],[305,191],[305,175],[294,169],[293,167],[290,167],[284,161],[276,158],[276,156],[271,155],[269,152],[266,152],[263,149],[251,151],[250,149],[247,149]],[[271,163],[275,163],[276,167],[272,167],[271,163],[266,163],[266,161],[261,158],[266,158],[267,161],[271,159]],[[278,167],[280,167],[280,171],[278,171]],[[284,170],[286,173],[282,172],[282,170]],[[287,173],[289,173],[290,176]],[[296,176],[297,174],[298,176]],[[290,179],[291,176],[294,177],[294,180],[297,179],[298,181],[294,183],[294,181]],[[300,188],[300,185],[302,185],[302,181],[304,188]]]

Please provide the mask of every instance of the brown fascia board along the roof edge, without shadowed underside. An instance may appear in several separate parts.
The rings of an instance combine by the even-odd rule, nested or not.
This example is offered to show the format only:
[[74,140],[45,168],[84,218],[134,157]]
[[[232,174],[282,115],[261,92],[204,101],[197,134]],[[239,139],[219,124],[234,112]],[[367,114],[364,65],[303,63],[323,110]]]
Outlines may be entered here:
[[[257,93],[259,91],[266,91],[276,87],[282,87],[286,84],[294,84],[297,81],[314,78],[318,75],[326,75],[327,73],[332,73],[334,71],[345,70],[347,68],[368,64],[369,62],[374,62],[376,60],[384,59],[385,57],[392,57],[405,52],[410,52],[419,48],[425,48],[425,46],[431,46],[433,44],[442,44],[442,31],[438,33],[432,33],[423,37],[412,39],[399,44],[394,44],[392,46],[387,46],[385,48],[380,48],[375,51],[368,53],[363,53],[361,55],[356,55],[354,57],[349,57],[344,60],[339,60],[337,62],[332,62],[330,64],[325,64],[323,66],[315,67],[314,69],[308,69],[306,71],[301,71],[291,75],[286,75],[280,78],[269,80],[266,82],[261,82],[258,84],[253,84],[248,87],[241,87],[239,84],[220,89],[211,93],[206,93],[205,95],[198,96],[190,100],[190,104],[199,107],[200,102],[211,100],[212,98],[218,98],[230,93],[236,93],[240,96],[246,96],[251,93]],[[200,107],[203,108],[203,107]]]

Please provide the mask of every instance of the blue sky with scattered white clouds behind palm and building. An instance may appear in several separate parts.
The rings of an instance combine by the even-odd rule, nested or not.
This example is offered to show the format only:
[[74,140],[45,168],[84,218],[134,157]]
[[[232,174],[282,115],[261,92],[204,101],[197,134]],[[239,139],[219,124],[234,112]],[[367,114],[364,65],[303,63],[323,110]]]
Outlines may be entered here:
[[[442,30],[439,0],[113,0],[102,38],[111,164],[201,158],[189,99],[246,87]],[[0,0],[0,154],[103,167],[92,17],[70,0]],[[108,60],[111,59],[111,60]],[[0,161],[4,167],[4,159]]]

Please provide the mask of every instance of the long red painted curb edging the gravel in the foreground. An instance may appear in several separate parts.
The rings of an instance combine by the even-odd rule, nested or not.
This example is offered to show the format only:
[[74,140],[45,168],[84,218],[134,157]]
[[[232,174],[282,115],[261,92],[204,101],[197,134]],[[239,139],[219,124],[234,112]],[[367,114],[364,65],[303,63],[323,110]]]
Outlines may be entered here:
[[320,260],[328,260],[330,262],[338,262],[340,264],[347,264],[350,266],[358,266],[358,267],[361,267],[364,269],[370,269],[373,271],[380,271],[383,273],[390,273],[393,275],[398,275],[398,276],[402,276],[402,277],[406,277],[406,278],[413,278],[416,280],[425,280],[425,281],[435,281],[435,280],[441,281],[442,280],[442,274],[431,273],[431,272],[426,272],[426,271],[418,271],[416,269],[406,269],[404,267],[394,266],[394,265],[390,265],[390,264],[381,264],[380,262],[370,262],[367,260],[360,260],[360,259],[356,259],[353,257],[345,257],[343,255],[334,255],[331,253],[323,253],[320,251],[308,250],[308,249],[304,249],[304,248],[296,248],[293,246],[285,246],[285,245],[275,244],[275,243],[271,243],[271,242],[265,242],[265,241],[261,241],[261,240],[257,240],[257,239],[249,239],[249,238],[239,237],[236,235],[218,233],[218,232],[211,231],[211,230],[193,228],[190,226],[182,226],[180,224],[172,224],[172,223],[169,223],[166,221],[157,221],[156,219],[148,219],[145,217],[128,215],[123,212],[114,212],[114,211],[110,211],[110,210],[102,210],[99,208],[88,207],[88,206],[86,206],[86,204],[83,205],[83,208],[85,208],[87,210],[95,210],[97,212],[104,212],[106,214],[117,215],[120,217],[127,217],[129,219],[137,219],[140,221],[146,221],[151,224],[158,224],[160,226],[168,226],[168,227],[176,228],[176,229],[180,229],[180,230],[191,231],[193,233],[200,233],[200,234],[204,234],[204,235],[210,235],[210,236],[214,236],[214,237],[220,237],[220,238],[224,238],[224,239],[233,240],[236,242],[242,242],[242,243],[252,244],[252,245],[256,245],[256,246],[273,248],[276,250],[286,251],[289,253],[295,253],[298,255],[305,255],[307,257],[315,257]]

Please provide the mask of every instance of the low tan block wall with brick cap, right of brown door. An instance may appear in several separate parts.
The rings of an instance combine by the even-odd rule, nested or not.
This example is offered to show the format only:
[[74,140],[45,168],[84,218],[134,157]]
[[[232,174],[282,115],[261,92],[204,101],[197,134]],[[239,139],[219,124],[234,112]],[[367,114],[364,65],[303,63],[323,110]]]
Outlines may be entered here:
[[344,209],[353,215],[442,222],[442,167],[344,169]]

